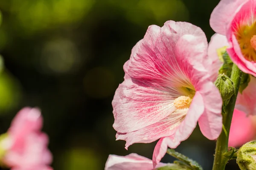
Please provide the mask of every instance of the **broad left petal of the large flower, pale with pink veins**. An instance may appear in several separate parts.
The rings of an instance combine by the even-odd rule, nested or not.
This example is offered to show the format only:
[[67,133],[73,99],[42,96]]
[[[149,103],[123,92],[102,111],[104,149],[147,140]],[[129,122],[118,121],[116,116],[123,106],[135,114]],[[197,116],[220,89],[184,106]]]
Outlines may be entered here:
[[178,94],[175,89],[160,91],[126,75],[112,102],[114,129],[128,133],[160,121],[175,111],[173,100]]

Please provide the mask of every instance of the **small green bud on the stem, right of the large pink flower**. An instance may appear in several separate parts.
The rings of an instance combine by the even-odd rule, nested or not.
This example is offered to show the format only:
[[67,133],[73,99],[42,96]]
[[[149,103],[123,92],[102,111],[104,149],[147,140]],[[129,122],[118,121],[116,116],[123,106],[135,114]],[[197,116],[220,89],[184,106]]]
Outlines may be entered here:
[[223,102],[229,101],[235,93],[235,87],[232,80],[225,74],[218,75],[214,84],[219,89]]

